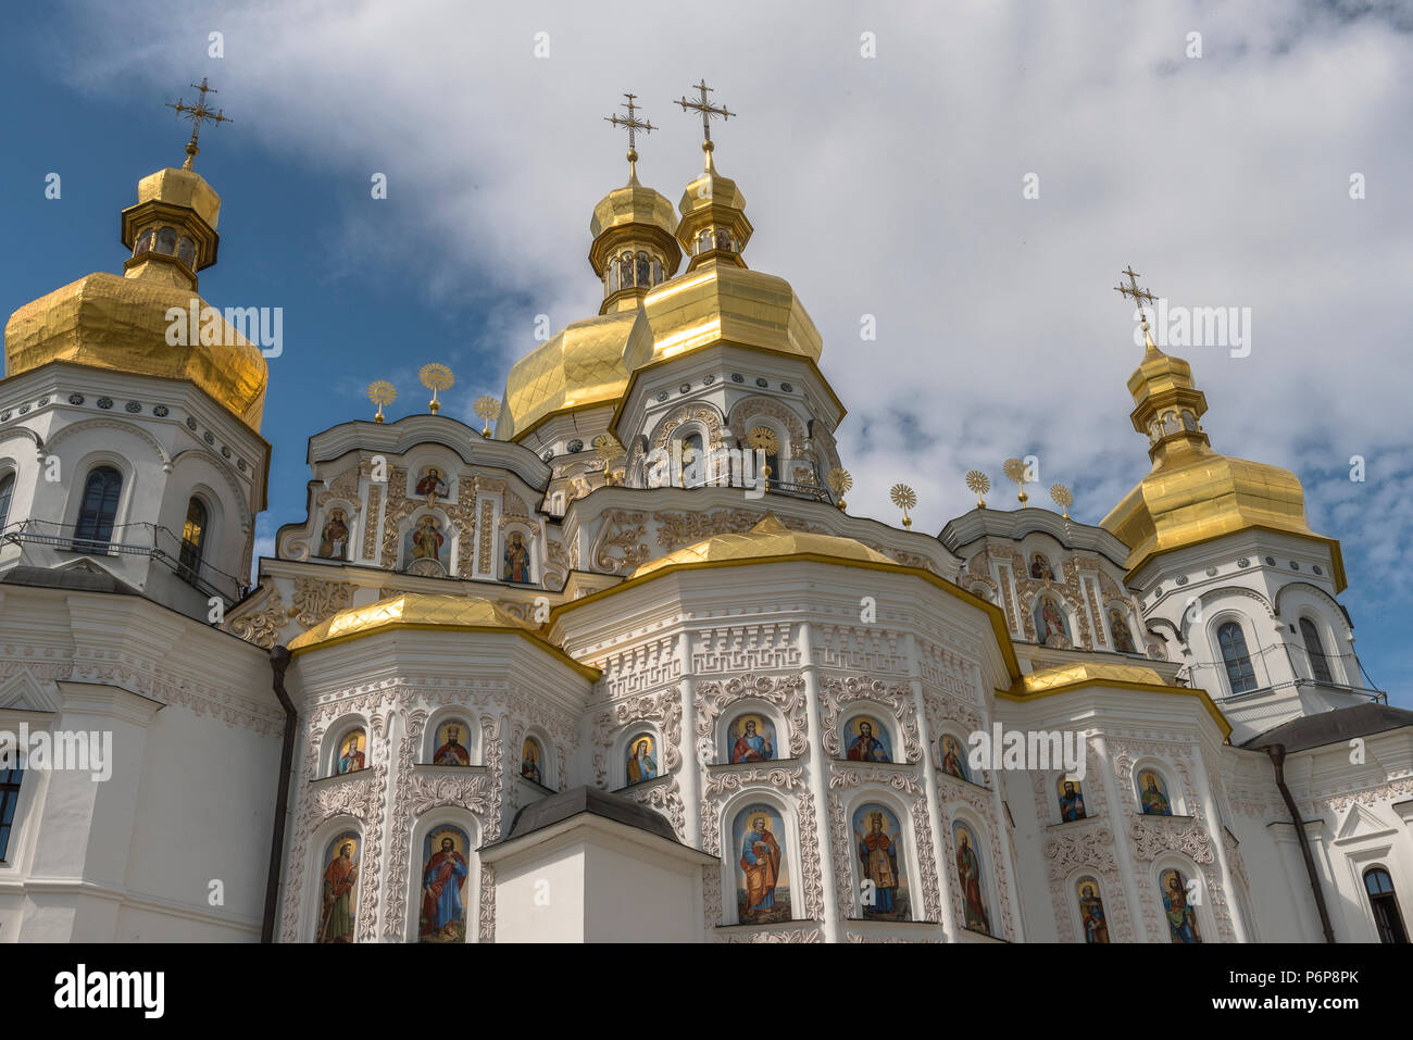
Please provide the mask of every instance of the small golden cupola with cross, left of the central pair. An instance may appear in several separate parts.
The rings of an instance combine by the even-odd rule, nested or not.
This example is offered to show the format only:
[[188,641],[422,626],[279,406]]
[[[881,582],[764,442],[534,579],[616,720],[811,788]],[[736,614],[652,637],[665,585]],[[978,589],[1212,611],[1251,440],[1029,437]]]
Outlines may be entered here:
[[674,236],[677,215],[660,192],[644,188],[637,179],[637,133],[656,127],[637,117],[637,95],[626,93],[627,116],[605,116],[613,126],[627,129],[627,184],[615,188],[593,206],[589,233],[589,266],[603,281],[603,305],[599,314],[636,309],[647,291],[677,273],[682,261]]

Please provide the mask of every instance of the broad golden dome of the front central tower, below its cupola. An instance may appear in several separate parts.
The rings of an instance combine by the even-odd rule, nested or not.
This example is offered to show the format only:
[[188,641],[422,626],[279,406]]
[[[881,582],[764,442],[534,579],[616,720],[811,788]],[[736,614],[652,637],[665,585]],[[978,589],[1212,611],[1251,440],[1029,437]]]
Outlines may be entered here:
[[644,301],[653,360],[726,342],[820,360],[820,331],[784,278],[708,257]]

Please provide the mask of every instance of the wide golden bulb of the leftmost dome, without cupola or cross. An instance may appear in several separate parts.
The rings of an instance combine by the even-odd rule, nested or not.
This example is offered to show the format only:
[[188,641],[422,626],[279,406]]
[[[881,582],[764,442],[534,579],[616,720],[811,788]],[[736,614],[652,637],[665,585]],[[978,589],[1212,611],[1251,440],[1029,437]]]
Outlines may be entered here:
[[[168,171],[175,172],[175,171]],[[171,346],[168,308],[198,312],[188,288],[147,278],[89,274],[25,304],[6,325],[6,374],[48,362],[187,379],[252,430],[260,430],[268,366],[260,348],[225,321],[222,345]],[[199,333],[199,326],[198,326]],[[226,345],[229,343],[229,345]]]

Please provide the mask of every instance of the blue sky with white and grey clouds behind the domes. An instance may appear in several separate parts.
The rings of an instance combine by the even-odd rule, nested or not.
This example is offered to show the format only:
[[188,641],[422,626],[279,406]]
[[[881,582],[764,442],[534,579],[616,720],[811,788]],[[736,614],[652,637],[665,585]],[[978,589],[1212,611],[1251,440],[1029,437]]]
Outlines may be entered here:
[[4,314],[122,270],[119,212],[184,158],[168,102],[209,76],[233,117],[196,160],[223,201],[201,290],[284,309],[257,554],[304,516],[307,438],[369,418],[369,382],[396,418],[442,362],[442,414],[479,425],[538,315],[596,314],[588,223],[626,179],[603,119],[639,96],[639,174],[675,202],[701,124],[673,100],[705,78],[735,113],[714,138],[745,259],[794,285],[849,408],[852,513],[896,521],[906,482],[935,531],[966,471],[1034,455],[1031,503],[1063,482],[1098,523],[1150,465],[1112,288],[1132,266],[1173,314],[1236,308],[1242,336],[1170,348],[1204,428],[1300,478],[1361,660],[1413,707],[1413,4],[61,1],[7,14],[0,55]]

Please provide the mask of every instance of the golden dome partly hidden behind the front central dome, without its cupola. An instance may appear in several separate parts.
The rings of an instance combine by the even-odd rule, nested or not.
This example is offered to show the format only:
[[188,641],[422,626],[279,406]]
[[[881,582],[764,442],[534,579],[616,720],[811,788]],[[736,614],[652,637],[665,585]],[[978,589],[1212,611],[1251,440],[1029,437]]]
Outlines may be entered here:
[[633,369],[651,356],[653,332],[640,308],[565,326],[510,369],[496,437],[512,441],[551,415],[617,401]]

